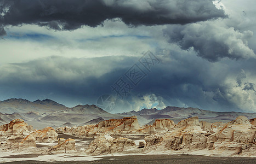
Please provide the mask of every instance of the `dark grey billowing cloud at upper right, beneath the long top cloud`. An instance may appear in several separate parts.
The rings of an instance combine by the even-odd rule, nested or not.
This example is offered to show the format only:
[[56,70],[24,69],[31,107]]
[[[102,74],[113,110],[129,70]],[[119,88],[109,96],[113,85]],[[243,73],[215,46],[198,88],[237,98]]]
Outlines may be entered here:
[[218,21],[170,25],[164,34],[170,43],[177,43],[184,50],[194,48],[198,56],[211,62],[225,57],[235,60],[255,57],[247,41],[253,36],[252,31],[240,32]]

